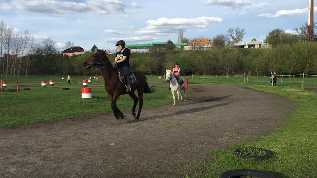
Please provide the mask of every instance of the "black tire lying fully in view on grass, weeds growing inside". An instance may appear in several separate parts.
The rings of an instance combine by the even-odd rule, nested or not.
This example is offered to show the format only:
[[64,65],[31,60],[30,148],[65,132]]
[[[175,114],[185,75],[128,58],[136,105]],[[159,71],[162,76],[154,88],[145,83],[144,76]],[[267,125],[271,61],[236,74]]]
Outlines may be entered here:
[[[255,150],[255,151],[264,151],[265,155],[263,156],[249,156],[249,155],[244,155],[243,154],[243,150]],[[241,157],[241,158],[245,158],[245,159],[251,159],[251,160],[255,160],[255,161],[264,161],[266,159],[269,159],[270,157],[272,157],[274,154],[272,151],[264,149],[264,148],[256,148],[256,147],[246,147],[246,148],[238,148],[234,150],[234,154],[236,154],[237,156]]]

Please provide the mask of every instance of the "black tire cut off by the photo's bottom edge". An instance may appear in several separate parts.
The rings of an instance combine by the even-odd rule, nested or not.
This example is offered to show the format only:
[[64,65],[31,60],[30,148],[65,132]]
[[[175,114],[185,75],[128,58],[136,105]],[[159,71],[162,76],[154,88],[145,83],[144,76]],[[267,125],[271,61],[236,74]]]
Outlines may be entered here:
[[273,174],[261,170],[237,169],[223,172],[220,178],[239,178],[239,177],[254,177],[254,178],[275,178]]

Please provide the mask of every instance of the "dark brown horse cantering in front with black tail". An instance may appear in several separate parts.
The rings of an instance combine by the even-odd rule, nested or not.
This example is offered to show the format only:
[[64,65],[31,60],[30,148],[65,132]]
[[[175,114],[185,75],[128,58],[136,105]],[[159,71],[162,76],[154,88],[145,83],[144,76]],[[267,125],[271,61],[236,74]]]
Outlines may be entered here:
[[[108,92],[109,98],[111,100],[111,108],[113,110],[113,114],[117,120],[125,119],[126,117],[122,114],[122,112],[116,106],[116,101],[120,95],[128,94],[134,101],[132,107],[132,116],[134,119],[139,120],[140,113],[143,106],[143,93],[153,93],[154,88],[148,86],[146,81],[146,77],[139,73],[133,72],[136,77],[136,82],[131,85],[131,91],[126,92],[124,85],[120,82],[118,70],[114,68],[109,61],[105,51],[97,52],[87,58],[84,63],[84,67],[86,69],[90,67],[100,67],[102,76],[104,78],[104,87]],[[134,91],[138,91],[138,97],[135,95]],[[140,101],[139,101],[140,100]],[[135,113],[135,108],[139,101],[139,111],[138,114]]]

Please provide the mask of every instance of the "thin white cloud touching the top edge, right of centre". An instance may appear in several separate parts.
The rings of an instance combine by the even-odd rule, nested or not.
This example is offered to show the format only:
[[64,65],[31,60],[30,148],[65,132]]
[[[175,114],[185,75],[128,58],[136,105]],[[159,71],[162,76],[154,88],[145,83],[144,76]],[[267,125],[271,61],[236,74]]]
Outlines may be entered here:
[[218,5],[231,9],[258,9],[269,6],[266,2],[254,3],[250,0],[205,0],[206,5]]

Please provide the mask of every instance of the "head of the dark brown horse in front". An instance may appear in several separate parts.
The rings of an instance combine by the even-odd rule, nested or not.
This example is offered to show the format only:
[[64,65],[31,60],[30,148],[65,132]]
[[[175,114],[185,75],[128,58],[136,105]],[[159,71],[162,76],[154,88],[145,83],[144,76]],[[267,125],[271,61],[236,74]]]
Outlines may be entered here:
[[83,66],[86,69],[91,67],[101,67],[102,64],[105,64],[109,61],[108,56],[106,55],[106,51],[101,50],[100,52],[94,53],[83,62]]

